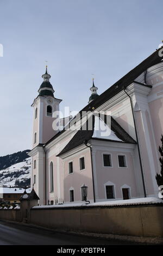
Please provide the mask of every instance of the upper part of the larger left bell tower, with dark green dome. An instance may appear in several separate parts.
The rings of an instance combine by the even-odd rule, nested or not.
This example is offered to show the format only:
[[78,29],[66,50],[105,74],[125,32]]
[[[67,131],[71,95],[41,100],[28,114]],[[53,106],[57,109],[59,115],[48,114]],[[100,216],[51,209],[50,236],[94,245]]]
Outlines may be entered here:
[[59,119],[59,115],[53,117],[53,113],[59,111],[59,103],[62,101],[54,97],[54,89],[49,82],[51,75],[48,74],[47,66],[42,78],[43,82],[38,90],[39,95],[32,104],[34,109],[33,148],[38,144],[45,144],[57,134],[58,130],[53,129],[55,127],[52,127],[52,125],[54,120],[57,121],[56,119]]

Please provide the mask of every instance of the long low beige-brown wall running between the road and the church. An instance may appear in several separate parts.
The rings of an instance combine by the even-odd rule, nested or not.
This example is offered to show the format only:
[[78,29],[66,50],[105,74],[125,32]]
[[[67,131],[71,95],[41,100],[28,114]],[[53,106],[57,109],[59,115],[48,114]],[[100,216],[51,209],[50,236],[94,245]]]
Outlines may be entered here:
[[[0,210],[0,220],[23,221],[21,210]],[[145,237],[163,237],[163,205],[55,207],[29,210],[27,222],[42,227]]]

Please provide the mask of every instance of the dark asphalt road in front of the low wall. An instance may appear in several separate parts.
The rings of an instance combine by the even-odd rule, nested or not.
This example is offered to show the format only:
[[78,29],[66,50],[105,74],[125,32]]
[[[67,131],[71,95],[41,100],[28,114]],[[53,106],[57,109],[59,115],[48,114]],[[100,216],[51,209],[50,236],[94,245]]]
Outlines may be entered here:
[[136,245],[136,243],[61,234],[53,230],[0,221],[0,245]]

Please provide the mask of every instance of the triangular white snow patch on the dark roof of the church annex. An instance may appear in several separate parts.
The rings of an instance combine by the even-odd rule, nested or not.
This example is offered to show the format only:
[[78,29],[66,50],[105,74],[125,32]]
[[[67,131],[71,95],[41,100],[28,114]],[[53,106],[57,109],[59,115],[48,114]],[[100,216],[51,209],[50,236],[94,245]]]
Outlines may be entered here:
[[122,139],[118,138],[114,131],[112,131],[105,122],[95,115],[95,126],[92,138],[99,139],[111,139],[112,141],[122,141]]

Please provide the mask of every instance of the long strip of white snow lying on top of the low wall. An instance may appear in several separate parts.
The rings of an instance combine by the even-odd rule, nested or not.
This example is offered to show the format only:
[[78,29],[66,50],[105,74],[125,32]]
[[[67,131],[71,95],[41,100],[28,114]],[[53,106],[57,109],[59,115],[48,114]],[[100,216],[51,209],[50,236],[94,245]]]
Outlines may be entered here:
[[155,197],[146,198],[134,198],[128,200],[112,200],[106,202],[97,203],[69,203],[69,204],[58,204],[58,205],[40,205],[34,206],[33,209],[46,209],[46,208],[68,208],[68,207],[92,207],[92,206],[121,206],[121,205],[140,205],[140,204],[162,204],[163,200]]

